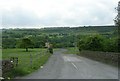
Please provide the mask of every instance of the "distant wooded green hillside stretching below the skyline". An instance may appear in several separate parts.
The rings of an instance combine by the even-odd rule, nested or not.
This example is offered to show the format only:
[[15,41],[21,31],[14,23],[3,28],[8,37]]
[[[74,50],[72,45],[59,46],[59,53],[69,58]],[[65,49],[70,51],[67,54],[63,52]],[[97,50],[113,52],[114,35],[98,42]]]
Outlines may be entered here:
[[99,33],[111,37],[117,34],[115,30],[115,26],[2,29],[2,47],[16,48],[17,42],[22,38],[29,38],[34,43],[34,48],[44,48],[47,41],[52,43],[54,48],[74,47],[78,35],[86,36]]

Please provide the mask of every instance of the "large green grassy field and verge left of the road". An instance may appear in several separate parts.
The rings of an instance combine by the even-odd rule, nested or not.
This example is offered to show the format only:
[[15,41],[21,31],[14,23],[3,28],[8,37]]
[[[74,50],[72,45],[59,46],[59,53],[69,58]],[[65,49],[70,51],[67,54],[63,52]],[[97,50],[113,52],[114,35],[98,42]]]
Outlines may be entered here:
[[[30,56],[31,55],[31,56]],[[18,66],[5,74],[6,77],[24,76],[37,70],[48,60],[51,54],[46,49],[3,49],[2,58],[18,57]]]

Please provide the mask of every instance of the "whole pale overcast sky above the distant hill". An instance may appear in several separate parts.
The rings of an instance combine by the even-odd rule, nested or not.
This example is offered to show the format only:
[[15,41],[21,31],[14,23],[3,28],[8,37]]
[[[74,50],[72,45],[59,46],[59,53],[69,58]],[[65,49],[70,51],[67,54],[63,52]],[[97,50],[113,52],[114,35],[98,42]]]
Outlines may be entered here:
[[9,27],[113,25],[119,0],[0,0],[0,22]]

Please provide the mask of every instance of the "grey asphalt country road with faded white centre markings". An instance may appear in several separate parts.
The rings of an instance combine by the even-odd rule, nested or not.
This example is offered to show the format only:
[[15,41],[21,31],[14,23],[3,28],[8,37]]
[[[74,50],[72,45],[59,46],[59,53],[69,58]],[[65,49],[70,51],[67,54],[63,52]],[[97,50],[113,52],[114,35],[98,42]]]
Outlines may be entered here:
[[116,67],[64,51],[55,51],[42,69],[22,79],[118,79]]

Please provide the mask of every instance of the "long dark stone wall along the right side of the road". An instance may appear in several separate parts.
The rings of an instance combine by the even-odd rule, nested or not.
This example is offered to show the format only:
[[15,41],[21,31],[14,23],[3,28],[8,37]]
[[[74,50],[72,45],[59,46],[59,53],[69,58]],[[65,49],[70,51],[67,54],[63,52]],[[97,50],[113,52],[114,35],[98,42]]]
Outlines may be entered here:
[[112,64],[115,66],[118,66],[118,56],[120,55],[119,53],[114,53],[114,52],[101,52],[101,51],[88,51],[88,50],[83,50],[80,52],[81,56],[101,61],[107,64]]

